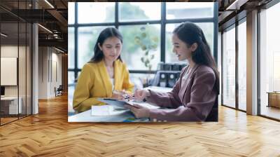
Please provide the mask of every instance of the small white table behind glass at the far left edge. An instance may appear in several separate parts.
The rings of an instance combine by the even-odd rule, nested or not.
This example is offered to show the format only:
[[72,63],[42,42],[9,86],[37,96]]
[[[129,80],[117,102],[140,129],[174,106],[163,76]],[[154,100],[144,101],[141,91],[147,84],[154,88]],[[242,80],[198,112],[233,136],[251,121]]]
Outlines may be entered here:
[[[19,100],[19,103],[18,103]],[[8,114],[22,114],[22,97],[1,97],[1,103],[8,102]],[[3,107],[4,105],[1,104]]]

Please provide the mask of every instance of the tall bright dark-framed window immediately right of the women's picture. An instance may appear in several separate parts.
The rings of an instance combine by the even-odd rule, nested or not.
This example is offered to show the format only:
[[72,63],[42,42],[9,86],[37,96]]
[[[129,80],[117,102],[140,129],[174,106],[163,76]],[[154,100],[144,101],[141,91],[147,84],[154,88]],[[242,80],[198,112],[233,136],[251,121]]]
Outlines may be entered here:
[[223,30],[222,104],[246,111],[246,17]]

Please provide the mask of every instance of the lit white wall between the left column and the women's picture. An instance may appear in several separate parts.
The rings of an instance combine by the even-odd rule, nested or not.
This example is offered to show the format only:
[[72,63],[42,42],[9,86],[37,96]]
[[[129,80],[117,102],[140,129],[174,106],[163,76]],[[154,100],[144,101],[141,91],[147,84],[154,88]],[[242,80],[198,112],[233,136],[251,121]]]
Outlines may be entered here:
[[39,47],[38,51],[38,98],[49,99],[62,84],[62,55],[50,47]]

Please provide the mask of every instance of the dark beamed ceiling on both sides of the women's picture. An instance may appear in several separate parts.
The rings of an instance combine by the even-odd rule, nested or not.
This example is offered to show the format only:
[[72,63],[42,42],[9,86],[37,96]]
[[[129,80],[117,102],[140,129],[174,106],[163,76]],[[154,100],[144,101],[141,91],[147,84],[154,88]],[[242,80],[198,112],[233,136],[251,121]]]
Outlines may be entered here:
[[[242,11],[261,7],[271,0],[204,0],[203,2],[207,1],[218,2],[218,25],[222,27]],[[1,0],[1,21],[6,23],[18,20],[38,22],[51,31],[50,33],[43,27],[38,27],[39,46],[56,46],[67,51],[67,2],[67,0],[33,0],[32,4],[31,0]],[[35,6],[36,9],[34,9]],[[18,29],[8,24],[3,25],[3,27],[10,28],[11,34],[13,31],[16,32],[14,29]]]

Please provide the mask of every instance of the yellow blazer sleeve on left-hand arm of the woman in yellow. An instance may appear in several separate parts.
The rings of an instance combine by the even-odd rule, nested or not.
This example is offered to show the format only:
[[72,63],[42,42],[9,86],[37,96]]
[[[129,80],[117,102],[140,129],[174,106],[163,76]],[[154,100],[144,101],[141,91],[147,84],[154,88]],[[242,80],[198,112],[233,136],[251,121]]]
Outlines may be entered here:
[[73,95],[73,109],[78,112],[86,111],[94,104],[102,104],[97,97],[90,97],[90,89],[94,86],[94,75],[89,64],[85,64]]

